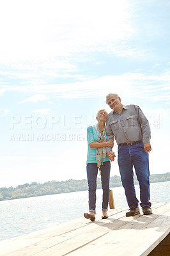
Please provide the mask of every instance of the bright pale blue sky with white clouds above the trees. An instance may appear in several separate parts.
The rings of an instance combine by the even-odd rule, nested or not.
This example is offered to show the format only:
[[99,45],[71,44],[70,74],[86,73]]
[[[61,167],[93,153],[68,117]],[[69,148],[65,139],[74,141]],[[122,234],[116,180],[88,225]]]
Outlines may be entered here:
[[0,188],[86,179],[86,129],[111,111],[108,93],[140,106],[150,173],[169,172],[169,11],[169,0],[0,2]]

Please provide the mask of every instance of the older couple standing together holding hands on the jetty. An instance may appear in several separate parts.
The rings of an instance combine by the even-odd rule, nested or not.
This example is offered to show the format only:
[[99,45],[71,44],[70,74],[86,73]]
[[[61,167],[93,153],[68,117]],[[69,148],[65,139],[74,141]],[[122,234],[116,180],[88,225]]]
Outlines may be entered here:
[[[107,115],[105,109],[97,113],[97,125],[88,127],[87,176],[89,188],[89,213],[84,217],[95,221],[97,173],[100,170],[103,201],[102,219],[108,218],[109,179],[111,163],[115,154],[112,152],[114,138],[118,143],[118,165],[129,211],[126,216],[140,214],[139,201],[135,195],[134,173],[140,187],[140,199],[143,214],[152,214],[150,203],[150,171],[148,153],[150,145],[150,125],[143,111],[136,105],[123,105],[118,94],[106,96],[106,103],[113,111]],[[106,122],[106,126],[105,126]]]

